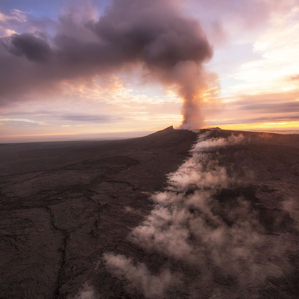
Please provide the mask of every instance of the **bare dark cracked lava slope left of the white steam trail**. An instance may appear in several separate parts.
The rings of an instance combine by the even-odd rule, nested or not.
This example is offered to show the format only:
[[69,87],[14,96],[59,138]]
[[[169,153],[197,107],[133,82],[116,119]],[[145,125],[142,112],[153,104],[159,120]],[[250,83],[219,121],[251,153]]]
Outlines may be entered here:
[[195,141],[169,127],[120,141],[0,144],[0,298],[67,298],[86,280],[118,298],[97,263],[104,251],[137,250],[126,237],[151,209],[148,193]]

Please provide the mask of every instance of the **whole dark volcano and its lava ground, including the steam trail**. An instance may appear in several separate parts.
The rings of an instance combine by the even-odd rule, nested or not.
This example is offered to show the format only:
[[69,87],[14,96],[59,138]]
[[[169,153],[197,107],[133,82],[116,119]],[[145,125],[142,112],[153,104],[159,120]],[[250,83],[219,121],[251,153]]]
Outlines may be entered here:
[[0,152],[0,298],[297,298],[299,135],[171,126]]

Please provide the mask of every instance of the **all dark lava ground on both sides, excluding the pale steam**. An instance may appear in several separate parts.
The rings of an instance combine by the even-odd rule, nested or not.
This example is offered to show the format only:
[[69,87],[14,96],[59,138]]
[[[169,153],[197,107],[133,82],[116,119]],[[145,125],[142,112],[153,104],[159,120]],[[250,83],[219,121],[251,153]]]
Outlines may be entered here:
[[299,135],[208,132],[211,140],[244,136],[209,152],[234,182],[213,195],[213,212],[231,226],[229,211],[240,198],[248,203],[258,232],[270,236],[263,241],[277,240],[283,259],[275,254],[271,263],[279,275],[240,291],[234,275],[213,265],[205,284],[198,268],[128,238],[153,209],[149,195],[164,190],[166,175],[205,133],[169,127],[120,141],[0,144],[0,298],[158,298],[110,271],[106,252],[153,274],[165,265],[186,272],[182,285],[160,298],[297,298]]

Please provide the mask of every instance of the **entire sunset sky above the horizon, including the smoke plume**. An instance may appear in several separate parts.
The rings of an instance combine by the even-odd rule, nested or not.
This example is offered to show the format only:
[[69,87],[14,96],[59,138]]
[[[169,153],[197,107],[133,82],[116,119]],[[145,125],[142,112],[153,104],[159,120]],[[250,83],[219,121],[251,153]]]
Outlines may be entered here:
[[2,0],[0,143],[299,132],[298,0]]

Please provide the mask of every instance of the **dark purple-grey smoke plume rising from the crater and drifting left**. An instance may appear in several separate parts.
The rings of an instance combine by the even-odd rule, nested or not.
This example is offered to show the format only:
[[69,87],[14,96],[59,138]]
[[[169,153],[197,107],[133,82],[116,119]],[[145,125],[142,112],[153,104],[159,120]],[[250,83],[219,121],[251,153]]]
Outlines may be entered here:
[[178,88],[184,99],[183,127],[199,128],[206,84],[202,64],[212,57],[199,23],[183,16],[172,0],[114,0],[97,21],[93,17],[90,6],[68,10],[54,36],[34,32],[2,38],[2,104],[62,80],[142,65],[147,78]]

